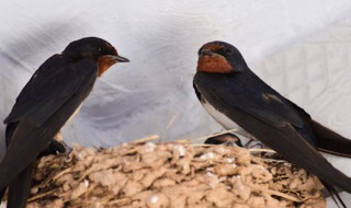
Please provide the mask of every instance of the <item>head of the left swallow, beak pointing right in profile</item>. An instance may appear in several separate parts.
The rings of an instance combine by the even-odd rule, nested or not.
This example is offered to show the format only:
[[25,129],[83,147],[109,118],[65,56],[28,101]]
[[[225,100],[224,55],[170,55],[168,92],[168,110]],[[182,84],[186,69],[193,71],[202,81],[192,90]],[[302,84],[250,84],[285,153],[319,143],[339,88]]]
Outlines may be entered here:
[[116,62],[128,62],[127,58],[118,55],[117,50],[106,41],[99,37],[84,37],[70,43],[63,55],[72,59],[90,58],[98,62],[100,77]]

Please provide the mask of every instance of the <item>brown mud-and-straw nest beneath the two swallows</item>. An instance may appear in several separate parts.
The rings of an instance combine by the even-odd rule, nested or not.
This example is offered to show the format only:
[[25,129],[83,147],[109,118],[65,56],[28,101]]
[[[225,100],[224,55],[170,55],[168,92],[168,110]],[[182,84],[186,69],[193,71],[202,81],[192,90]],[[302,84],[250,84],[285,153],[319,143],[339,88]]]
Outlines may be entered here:
[[326,207],[315,176],[261,150],[154,139],[42,158],[27,207]]

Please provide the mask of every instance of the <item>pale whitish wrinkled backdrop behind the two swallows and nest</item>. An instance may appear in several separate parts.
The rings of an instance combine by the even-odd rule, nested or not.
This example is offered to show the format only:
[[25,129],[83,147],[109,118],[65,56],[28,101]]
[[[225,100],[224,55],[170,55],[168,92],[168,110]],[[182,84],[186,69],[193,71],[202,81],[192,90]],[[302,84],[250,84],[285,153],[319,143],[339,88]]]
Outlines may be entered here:
[[[97,82],[64,128],[65,140],[107,147],[152,134],[173,140],[219,131],[192,89],[197,49],[219,39],[236,45],[269,84],[351,138],[350,9],[348,0],[3,1],[0,119],[45,59],[71,41],[99,36],[132,62]],[[0,125],[1,141],[3,130]]]

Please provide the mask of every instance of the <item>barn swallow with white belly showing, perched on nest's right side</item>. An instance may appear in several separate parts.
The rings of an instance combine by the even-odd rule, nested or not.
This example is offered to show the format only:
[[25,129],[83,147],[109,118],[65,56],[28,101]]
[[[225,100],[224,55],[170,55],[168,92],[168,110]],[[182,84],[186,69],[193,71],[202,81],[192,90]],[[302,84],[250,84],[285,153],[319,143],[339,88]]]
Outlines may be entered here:
[[224,42],[203,45],[193,85],[215,120],[227,129],[239,128],[253,136],[316,175],[346,207],[336,187],[351,193],[351,180],[317,150],[350,157],[351,141],[313,120],[303,108],[265,84],[236,47]]

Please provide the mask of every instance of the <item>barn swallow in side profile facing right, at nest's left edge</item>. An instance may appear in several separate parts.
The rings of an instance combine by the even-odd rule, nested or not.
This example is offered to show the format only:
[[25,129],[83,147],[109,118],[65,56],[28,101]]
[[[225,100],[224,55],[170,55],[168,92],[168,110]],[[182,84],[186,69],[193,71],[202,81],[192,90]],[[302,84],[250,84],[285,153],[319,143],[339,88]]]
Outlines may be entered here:
[[36,158],[57,149],[53,138],[79,109],[97,78],[127,61],[106,41],[86,37],[35,71],[4,119],[8,147],[0,163],[0,190],[9,186],[8,207],[25,207]]

